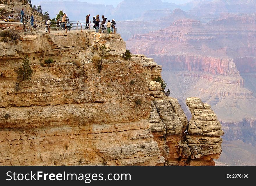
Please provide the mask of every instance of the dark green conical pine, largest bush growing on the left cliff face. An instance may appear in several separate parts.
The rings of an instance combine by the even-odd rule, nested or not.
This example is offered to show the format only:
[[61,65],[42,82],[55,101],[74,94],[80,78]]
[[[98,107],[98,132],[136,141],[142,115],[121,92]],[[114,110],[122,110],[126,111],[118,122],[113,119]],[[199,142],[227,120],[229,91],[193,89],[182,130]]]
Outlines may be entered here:
[[32,77],[33,70],[31,68],[31,62],[29,57],[25,56],[22,65],[18,67],[18,75],[22,77],[23,81],[29,81]]

